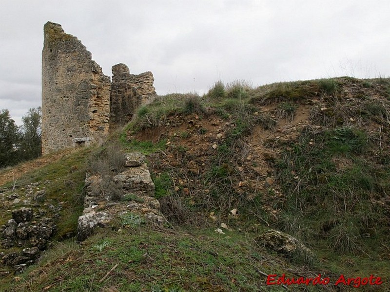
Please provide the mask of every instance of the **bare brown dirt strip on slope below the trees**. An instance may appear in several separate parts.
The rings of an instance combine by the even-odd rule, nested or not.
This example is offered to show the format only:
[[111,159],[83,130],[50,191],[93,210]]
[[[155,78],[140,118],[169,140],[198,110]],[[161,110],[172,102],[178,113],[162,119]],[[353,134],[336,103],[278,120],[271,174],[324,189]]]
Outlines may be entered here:
[[13,180],[17,180],[23,174],[32,171],[34,169],[38,169],[46,164],[50,164],[62,156],[70,153],[74,149],[66,149],[64,151],[59,151],[56,153],[48,154],[42,157],[39,157],[35,160],[28,161],[26,163],[18,164],[10,168],[6,168],[4,170],[0,170],[0,186],[12,182]]

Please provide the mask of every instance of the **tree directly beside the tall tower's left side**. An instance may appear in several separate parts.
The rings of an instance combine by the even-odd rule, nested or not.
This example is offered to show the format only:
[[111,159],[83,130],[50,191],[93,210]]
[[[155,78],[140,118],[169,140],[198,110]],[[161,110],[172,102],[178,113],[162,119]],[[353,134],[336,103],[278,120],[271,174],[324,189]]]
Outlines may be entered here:
[[20,154],[23,160],[30,160],[41,155],[41,108],[32,108],[22,117]]

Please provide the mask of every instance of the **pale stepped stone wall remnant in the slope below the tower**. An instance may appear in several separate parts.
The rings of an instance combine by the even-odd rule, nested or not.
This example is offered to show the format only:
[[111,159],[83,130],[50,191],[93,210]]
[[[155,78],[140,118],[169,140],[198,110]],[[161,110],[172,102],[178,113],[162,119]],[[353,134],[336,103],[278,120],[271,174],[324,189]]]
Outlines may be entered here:
[[93,235],[97,227],[107,226],[111,219],[120,214],[131,212],[157,225],[165,221],[159,212],[159,202],[153,198],[155,184],[144,160],[145,156],[141,153],[125,154],[126,169],[112,176],[114,183],[120,187],[121,195],[117,200],[104,192],[97,192],[102,178],[87,173],[84,211],[78,218],[78,241]]

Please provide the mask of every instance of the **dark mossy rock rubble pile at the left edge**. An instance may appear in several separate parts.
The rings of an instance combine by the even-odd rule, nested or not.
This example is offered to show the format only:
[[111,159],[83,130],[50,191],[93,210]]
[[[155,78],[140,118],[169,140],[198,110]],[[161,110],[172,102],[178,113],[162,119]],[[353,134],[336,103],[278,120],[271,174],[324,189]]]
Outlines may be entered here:
[[[45,200],[46,190],[40,188],[39,183],[31,183],[20,188],[19,194],[14,189],[0,190],[0,208],[10,209],[12,216],[0,226],[0,245],[5,250],[13,250],[9,253],[6,251],[0,253],[0,265],[10,266],[20,273],[46,250],[56,232],[54,220],[59,216],[61,206],[55,207]],[[43,205],[48,210],[42,209]]]

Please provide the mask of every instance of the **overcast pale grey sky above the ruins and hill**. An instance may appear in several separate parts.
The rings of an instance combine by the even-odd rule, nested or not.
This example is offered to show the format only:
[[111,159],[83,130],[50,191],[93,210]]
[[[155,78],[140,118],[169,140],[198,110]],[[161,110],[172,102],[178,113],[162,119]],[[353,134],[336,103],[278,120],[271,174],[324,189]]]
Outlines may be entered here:
[[157,94],[390,75],[389,0],[0,0],[0,110],[17,124],[41,104],[49,20],[106,75],[152,71]]

